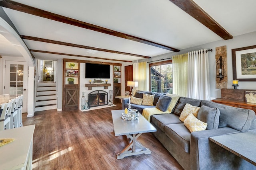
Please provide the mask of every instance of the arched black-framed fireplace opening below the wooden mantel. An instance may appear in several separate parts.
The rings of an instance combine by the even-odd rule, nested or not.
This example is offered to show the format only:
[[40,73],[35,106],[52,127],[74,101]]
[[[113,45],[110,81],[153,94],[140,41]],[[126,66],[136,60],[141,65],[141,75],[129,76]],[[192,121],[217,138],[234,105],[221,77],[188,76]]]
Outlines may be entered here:
[[88,94],[89,107],[104,106],[108,104],[108,93],[96,90]]

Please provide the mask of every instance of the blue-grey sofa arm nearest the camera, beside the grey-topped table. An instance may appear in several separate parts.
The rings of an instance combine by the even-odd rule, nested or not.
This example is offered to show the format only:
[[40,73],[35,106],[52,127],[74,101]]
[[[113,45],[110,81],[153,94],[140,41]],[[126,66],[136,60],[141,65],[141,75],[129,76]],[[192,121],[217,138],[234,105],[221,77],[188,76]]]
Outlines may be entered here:
[[[209,139],[209,137],[232,133],[241,132],[229,127],[224,127],[191,133],[190,169],[237,169],[243,160]],[[234,167],[234,162],[236,162],[235,166],[237,167]]]

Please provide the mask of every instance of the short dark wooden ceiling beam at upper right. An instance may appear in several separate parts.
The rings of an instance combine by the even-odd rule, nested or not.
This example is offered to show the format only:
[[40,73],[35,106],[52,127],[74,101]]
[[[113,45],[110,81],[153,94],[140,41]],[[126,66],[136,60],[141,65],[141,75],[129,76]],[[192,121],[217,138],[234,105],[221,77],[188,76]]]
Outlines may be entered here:
[[210,15],[200,8],[200,6],[198,6],[193,0],[170,1],[223,39],[227,40],[233,38],[228,31],[226,31],[218,22],[216,22]]

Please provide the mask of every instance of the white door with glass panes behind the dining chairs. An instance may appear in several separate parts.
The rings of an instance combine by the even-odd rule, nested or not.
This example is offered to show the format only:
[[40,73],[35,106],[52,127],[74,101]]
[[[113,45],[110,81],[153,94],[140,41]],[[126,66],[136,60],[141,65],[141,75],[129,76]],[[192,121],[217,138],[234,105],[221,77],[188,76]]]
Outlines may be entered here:
[[15,96],[23,94],[22,113],[27,112],[27,78],[28,66],[26,62],[5,62],[4,94]]

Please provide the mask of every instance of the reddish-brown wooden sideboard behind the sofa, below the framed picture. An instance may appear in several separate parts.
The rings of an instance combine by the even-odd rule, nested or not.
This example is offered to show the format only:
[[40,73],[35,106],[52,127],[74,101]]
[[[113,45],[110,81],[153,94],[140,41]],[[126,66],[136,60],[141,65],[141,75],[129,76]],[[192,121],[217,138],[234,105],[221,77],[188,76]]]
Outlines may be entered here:
[[256,112],[256,103],[240,102],[240,101],[228,100],[228,99],[222,99],[222,98],[216,98],[212,100],[212,102],[233,106],[233,107],[240,107],[243,109],[251,109],[254,112]]

